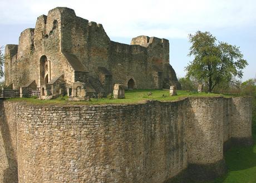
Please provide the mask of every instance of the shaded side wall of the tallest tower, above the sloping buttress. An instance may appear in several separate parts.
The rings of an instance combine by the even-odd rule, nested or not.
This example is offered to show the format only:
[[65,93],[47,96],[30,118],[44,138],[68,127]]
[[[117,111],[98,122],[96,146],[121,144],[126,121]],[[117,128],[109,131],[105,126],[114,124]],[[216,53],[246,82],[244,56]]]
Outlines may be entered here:
[[90,75],[97,67],[108,69],[110,38],[101,24],[77,17],[69,8],[56,8],[61,18],[61,51],[75,55]]

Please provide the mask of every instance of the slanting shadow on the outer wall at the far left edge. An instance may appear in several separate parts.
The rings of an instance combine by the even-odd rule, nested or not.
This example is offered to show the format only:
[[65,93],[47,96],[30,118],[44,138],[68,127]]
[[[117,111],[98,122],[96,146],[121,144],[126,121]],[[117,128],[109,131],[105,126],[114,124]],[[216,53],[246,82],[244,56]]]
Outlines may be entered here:
[[[3,100],[0,100],[0,127],[3,144],[1,145],[4,148],[3,152],[6,152],[7,157],[7,169],[3,170],[3,183],[18,183],[18,165],[15,155],[14,148],[12,146],[12,137],[9,129],[9,124],[7,123],[6,112],[3,106]],[[2,161],[2,160],[1,160]]]

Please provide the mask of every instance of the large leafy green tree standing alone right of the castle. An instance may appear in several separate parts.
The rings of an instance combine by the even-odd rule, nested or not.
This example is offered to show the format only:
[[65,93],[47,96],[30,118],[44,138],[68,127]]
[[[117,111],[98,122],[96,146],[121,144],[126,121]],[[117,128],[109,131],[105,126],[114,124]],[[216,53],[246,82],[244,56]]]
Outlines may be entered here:
[[232,77],[242,78],[242,70],[248,63],[239,47],[217,42],[210,32],[201,31],[189,34],[189,42],[192,46],[188,56],[194,56],[194,60],[185,67],[186,76],[206,83],[208,92]]

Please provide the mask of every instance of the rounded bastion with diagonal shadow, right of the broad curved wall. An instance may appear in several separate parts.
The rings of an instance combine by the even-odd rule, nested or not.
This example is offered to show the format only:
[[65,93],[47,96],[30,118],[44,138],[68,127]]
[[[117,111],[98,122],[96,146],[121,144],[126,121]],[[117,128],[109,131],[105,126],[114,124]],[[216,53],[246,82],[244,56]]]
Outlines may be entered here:
[[209,164],[223,159],[223,98],[189,98],[188,161]]

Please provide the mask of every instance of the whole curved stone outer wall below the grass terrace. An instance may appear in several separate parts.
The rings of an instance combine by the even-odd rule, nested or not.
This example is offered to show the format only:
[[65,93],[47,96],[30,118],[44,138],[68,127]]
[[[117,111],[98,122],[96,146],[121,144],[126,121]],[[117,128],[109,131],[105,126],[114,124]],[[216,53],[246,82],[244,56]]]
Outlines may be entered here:
[[224,142],[252,138],[250,102],[223,97],[101,106],[0,101],[0,183],[159,183],[180,175],[198,178],[204,171],[212,178],[225,171]]

